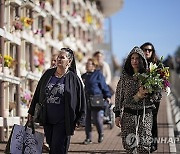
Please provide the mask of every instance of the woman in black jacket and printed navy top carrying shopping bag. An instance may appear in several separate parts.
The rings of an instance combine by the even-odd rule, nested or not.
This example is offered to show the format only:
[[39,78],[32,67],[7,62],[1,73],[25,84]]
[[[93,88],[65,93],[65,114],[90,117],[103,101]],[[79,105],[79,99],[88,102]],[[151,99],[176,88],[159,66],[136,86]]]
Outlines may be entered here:
[[33,120],[36,104],[44,103],[42,125],[50,154],[67,153],[69,136],[85,117],[85,95],[75,66],[73,51],[62,48],[57,67],[48,69],[39,80],[28,111],[28,119]]

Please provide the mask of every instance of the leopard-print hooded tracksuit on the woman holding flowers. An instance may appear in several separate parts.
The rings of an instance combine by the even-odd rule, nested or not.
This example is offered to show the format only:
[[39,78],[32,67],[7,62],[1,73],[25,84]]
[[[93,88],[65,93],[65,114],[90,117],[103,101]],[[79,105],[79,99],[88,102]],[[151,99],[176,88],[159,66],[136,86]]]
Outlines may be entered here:
[[[133,53],[138,53],[146,62],[142,50],[132,50],[129,56]],[[126,71],[123,70],[116,88],[114,112],[116,117],[121,117],[122,142],[124,148],[127,150],[135,149],[138,141],[138,147],[149,151],[152,141],[152,110],[155,109],[154,99],[156,97],[149,95],[142,100],[136,101],[134,95],[136,95],[138,89],[139,81],[137,78],[128,75]],[[149,112],[145,114],[123,112],[125,108],[130,109],[130,111],[143,111],[143,113],[145,113],[144,110],[148,110]]]

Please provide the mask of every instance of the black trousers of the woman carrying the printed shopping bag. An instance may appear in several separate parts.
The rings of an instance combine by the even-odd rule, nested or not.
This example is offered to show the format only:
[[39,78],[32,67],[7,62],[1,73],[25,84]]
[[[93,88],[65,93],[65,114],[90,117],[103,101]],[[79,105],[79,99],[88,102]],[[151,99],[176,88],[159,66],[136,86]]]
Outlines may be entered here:
[[70,136],[66,135],[65,123],[47,124],[44,126],[46,142],[49,145],[49,154],[67,154]]

